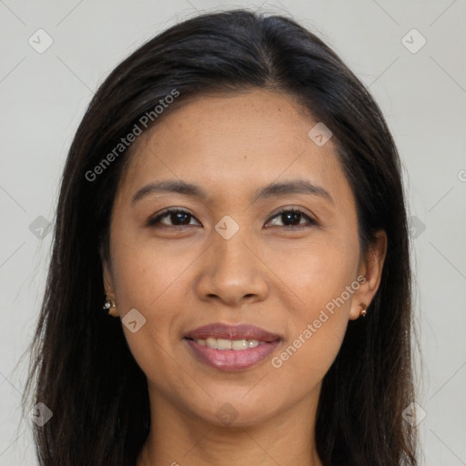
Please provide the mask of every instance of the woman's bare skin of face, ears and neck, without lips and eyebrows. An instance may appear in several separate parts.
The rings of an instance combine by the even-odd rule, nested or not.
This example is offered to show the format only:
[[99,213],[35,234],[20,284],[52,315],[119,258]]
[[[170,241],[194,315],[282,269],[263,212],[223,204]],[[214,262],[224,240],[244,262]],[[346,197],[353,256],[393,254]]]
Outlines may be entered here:
[[[135,333],[123,326],[150,399],[151,431],[137,466],[321,466],[313,441],[321,381],[349,319],[360,318],[360,303],[369,305],[380,285],[387,238],[380,231],[361,256],[354,196],[332,139],[318,147],[309,138],[316,123],[293,97],[254,89],[168,108],[137,139],[117,190],[104,263],[114,315],[137,309],[146,319]],[[208,198],[157,193],[132,205],[139,188],[167,179],[198,185]],[[294,179],[325,188],[332,200],[302,193],[254,199],[259,187]],[[173,207],[191,217],[178,228],[173,216],[147,226]],[[303,215],[287,224],[280,208]],[[239,227],[229,239],[215,229],[226,215]],[[359,276],[366,281],[344,305],[273,367],[271,359]],[[216,370],[183,340],[215,322],[253,324],[282,340],[257,366]],[[216,415],[225,403],[233,422]]]

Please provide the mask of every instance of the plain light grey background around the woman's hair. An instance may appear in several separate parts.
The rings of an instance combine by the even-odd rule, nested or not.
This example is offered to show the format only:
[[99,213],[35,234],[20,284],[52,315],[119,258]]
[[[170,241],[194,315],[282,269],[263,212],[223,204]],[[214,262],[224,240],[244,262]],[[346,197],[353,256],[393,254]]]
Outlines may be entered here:
[[[370,86],[388,120],[412,218],[422,464],[466,465],[465,0],[0,0],[1,465],[35,464],[31,420],[18,414],[25,362],[17,364],[45,286],[52,235],[40,228],[53,221],[86,105],[114,66],[157,32],[197,11],[239,5],[288,12],[308,26]],[[53,39],[41,54],[40,28]],[[416,53],[422,38],[413,28],[427,40]]]

